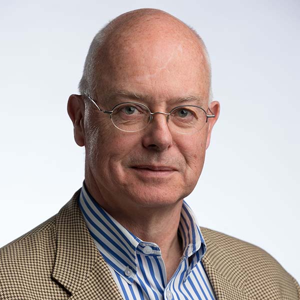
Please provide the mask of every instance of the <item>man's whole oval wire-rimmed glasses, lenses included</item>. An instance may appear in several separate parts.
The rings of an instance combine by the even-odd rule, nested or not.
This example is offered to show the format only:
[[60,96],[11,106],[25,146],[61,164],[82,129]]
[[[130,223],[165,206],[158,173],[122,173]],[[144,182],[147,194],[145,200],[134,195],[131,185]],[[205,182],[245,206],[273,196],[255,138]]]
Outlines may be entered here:
[[170,112],[151,110],[144,104],[138,102],[122,102],[116,104],[112,110],[101,109],[97,103],[87,94],[89,100],[103,113],[108,113],[112,124],[119,130],[136,132],[144,129],[153,119],[154,114],[166,115],[166,121],[170,131],[182,134],[192,134],[203,128],[208,118],[215,115],[208,108],[211,114],[197,105],[180,105],[171,109]]

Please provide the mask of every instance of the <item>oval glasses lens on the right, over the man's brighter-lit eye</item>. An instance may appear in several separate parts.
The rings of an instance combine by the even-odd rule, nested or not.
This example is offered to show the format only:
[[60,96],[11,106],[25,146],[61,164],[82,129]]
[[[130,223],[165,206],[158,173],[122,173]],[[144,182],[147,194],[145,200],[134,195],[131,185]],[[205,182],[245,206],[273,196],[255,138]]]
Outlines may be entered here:
[[206,112],[194,106],[179,106],[171,111],[169,127],[179,133],[193,133],[202,129],[206,122]]

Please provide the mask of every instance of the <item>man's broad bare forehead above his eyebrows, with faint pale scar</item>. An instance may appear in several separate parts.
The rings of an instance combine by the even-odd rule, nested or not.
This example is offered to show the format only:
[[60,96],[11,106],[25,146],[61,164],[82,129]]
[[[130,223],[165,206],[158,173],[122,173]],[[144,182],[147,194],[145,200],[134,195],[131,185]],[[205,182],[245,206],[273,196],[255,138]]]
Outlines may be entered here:
[[124,30],[110,39],[101,88],[156,99],[203,96],[207,70],[199,41],[173,24],[148,25]]

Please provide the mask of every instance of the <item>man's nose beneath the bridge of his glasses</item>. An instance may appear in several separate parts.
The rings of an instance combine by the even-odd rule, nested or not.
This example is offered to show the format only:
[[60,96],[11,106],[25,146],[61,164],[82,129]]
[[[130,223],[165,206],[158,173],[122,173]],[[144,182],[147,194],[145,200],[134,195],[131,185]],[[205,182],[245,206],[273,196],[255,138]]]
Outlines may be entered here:
[[165,113],[155,112],[152,120],[144,129],[142,143],[145,148],[163,151],[172,145],[172,135],[167,124]]

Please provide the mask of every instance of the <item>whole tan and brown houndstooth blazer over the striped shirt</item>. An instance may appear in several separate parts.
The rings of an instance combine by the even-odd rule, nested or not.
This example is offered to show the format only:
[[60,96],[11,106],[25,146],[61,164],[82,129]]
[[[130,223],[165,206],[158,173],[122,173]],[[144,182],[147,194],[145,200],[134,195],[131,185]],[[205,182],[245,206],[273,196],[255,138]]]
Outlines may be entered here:
[[[1,300],[121,300],[77,204],[0,249]],[[203,264],[218,300],[300,299],[300,287],[264,250],[201,228]]]

